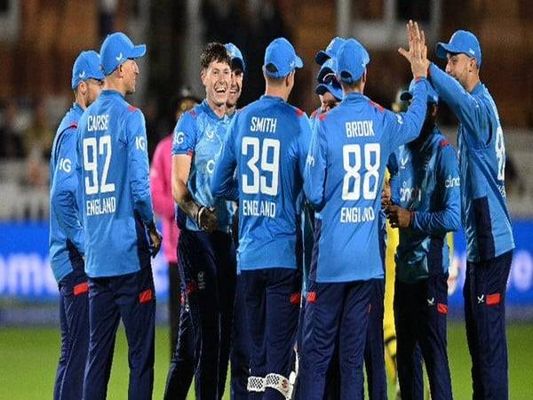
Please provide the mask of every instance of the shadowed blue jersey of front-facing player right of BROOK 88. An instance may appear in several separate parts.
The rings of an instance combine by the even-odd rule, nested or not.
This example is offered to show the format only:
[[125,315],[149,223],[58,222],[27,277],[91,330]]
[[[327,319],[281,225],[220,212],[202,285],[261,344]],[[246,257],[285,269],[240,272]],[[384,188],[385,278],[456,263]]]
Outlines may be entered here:
[[435,127],[423,143],[398,148],[388,167],[393,203],[414,212],[410,227],[400,228],[396,279],[413,284],[427,278],[429,262],[442,264],[442,271],[448,271],[445,236],[460,227],[461,213],[455,150]]

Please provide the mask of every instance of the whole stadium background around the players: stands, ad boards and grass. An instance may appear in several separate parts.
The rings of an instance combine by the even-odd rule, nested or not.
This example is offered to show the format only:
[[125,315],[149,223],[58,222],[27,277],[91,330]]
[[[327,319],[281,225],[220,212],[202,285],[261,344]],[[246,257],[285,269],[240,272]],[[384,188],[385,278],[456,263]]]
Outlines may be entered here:
[[[333,36],[355,36],[371,57],[366,94],[389,107],[410,76],[396,52],[407,18],[422,22],[432,60],[436,41],[447,41],[457,28],[473,30],[481,40],[481,80],[497,101],[505,131],[517,244],[507,292],[511,398],[533,398],[533,7],[528,0],[0,0],[0,398],[52,396],[60,332],[57,285],[48,261],[48,157],[72,101],[71,68],[81,50],[98,50],[115,30],[147,44],[138,91],[130,100],[147,117],[151,154],[171,132],[180,90],[188,86],[203,94],[199,53],[205,43],[233,42],[243,51],[243,106],[264,89],[260,65],[267,44],[277,36],[290,38],[305,62],[290,100],[310,113],[318,106],[314,53]],[[455,143],[456,121],[445,107],[440,124]],[[461,310],[462,233],[455,242],[462,274],[449,299],[449,358],[454,395],[464,399],[470,393],[470,360]],[[170,357],[162,256],[155,260],[154,275],[159,301],[154,397],[161,398]],[[125,396],[126,360],[121,331],[108,398]]]

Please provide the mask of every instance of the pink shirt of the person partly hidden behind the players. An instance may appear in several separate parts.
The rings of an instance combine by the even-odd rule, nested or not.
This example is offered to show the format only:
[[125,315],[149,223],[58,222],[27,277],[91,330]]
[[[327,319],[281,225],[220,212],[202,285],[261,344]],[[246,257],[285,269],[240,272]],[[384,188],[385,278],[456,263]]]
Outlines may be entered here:
[[172,135],[164,138],[155,148],[150,168],[150,188],[154,210],[163,221],[163,251],[168,262],[178,262],[177,245],[179,228],[174,220],[172,199]]

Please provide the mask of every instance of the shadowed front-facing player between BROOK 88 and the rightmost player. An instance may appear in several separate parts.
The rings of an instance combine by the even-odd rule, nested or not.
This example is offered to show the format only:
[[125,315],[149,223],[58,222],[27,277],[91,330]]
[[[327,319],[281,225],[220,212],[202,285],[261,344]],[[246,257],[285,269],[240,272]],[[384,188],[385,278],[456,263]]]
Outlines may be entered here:
[[[412,98],[414,84],[402,93],[402,100]],[[446,234],[460,227],[460,180],[455,150],[436,125],[438,101],[430,87],[420,136],[394,151],[387,164],[392,205],[386,213],[391,226],[400,230],[394,321],[403,400],[424,399],[422,391],[415,392],[422,376],[417,346],[425,360],[431,398],[452,398],[446,338]]]

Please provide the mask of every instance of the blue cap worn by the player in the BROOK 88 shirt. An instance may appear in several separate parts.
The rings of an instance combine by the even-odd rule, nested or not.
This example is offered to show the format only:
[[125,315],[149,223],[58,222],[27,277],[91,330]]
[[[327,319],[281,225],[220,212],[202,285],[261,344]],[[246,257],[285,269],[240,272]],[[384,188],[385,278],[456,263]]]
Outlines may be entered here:
[[355,39],[347,39],[337,54],[337,75],[341,82],[354,84],[370,62],[369,52]]

